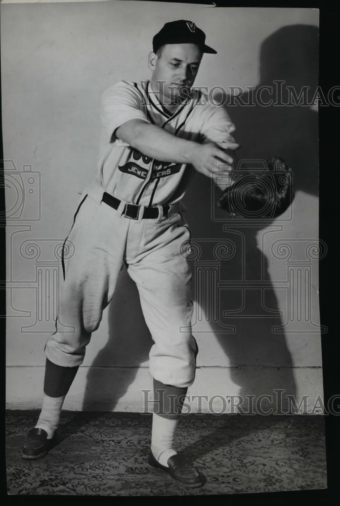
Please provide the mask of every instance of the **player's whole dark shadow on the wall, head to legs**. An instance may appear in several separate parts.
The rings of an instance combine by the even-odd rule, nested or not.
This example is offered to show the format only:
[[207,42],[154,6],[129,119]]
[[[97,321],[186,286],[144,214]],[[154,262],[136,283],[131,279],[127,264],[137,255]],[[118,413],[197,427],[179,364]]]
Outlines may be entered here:
[[[270,35],[263,43],[260,58],[260,86],[272,86],[275,80],[284,80],[285,86],[293,86],[299,94],[302,86],[317,87],[317,55],[318,29],[315,26],[286,26]],[[226,72],[227,74],[227,72]],[[228,83],[226,83],[228,86]],[[255,90],[256,93],[256,90]],[[264,94],[268,98],[268,95]],[[284,98],[284,97],[283,97]],[[243,95],[246,102],[246,97]],[[267,159],[271,156],[284,158],[293,169],[295,192],[301,190],[313,195],[318,193],[318,119],[310,107],[228,107],[232,121],[236,125],[235,138],[241,145],[239,157],[242,159]],[[186,194],[185,203],[188,207],[186,219],[189,222],[193,242],[205,244],[228,239],[235,245],[236,254],[229,259],[220,261],[219,280],[248,282],[266,280],[264,304],[261,302],[261,288],[245,290],[222,289],[219,293],[218,317],[209,320],[210,332],[193,334],[202,340],[218,339],[222,349],[232,365],[271,364],[272,367],[259,369],[256,393],[271,394],[273,389],[285,389],[286,394],[295,394],[292,359],[286,345],[285,334],[273,334],[273,325],[282,325],[278,313],[278,304],[273,285],[267,270],[268,260],[257,246],[259,228],[250,226],[233,227],[223,231],[223,220],[226,215],[217,209],[216,220],[212,220],[207,209],[211,209],[210,181],[196,174]],[[296,223],[299,217],[294,217]],[[228,221],[228,220],[226,220]],[[230,223],[230,220],[229,220]],[[278,222],[279,223],[279,222]],[[268,225],[268,222],[266,223]],[[302,224],[303,226],[303,224]],[[211,255],[211,254],[210,254]],[[192,264],[195,273],[197,263]],[[197,277],[194,275],[194,278]],[[109,308],[109,340],[103,350],[95,358],[87,377],[88,386],[83,401],[83,409],[94,408],[96,399],[96,375],[103,363],[108,364],[108,357],[114,356],[117,349],[126,349],[126,357],[130,368],[126,369],[123,384],[112,386],[112,397],[107,399],[105,409],[111,411],[116,402],[124,395],[133,383],[137,368],[148,359],[152,340],[144,323],[138,292],[134,283],[127,281],[128,275],[122,273]],[[193,282],[193,297],[205,315],[210,309],[206,290],[197,289],[197,279]],[[212,288],[214,291],[214,288]],[[242,293],[244,294],[243,301]],[[129,301],[122,304],[121,301]],[[238,316],[241,318],[223,317],[223,311],[242,308]],[[259,315],[266,313],[266,317]],[[256,315],[244,317],[242,315]],[[269,317],[268,317],[269,316]],[[195,318],[195,315],[194,315]],[[141,322],[137,329],[136,322]],[[226,331],[225,325],[234,326],[235,332]],[[198,328],[198,327],[196,327]],[[216,336],[213,336],[215,333]],[[121,351],[119,352],[121,356]],[[198,366],[204,366],[204,358],[198,355]],[[200,362],[202,360],[202,362]],[[275,367],[277,364],[277,367]],[[285,367],[282,376],[280,367]],[[239,385],[240,394],[253,393],[253,377],[242,372],[241,367],[232,367],[232,381]],[[244,369],[246,371],[246,369]],[[284,382],[282,381],[284,377]],[[224,391],[224,389],[222,389]],[[219,394],[219,392],[217,392]],[[285,409],[285,406],[281,406]],[[101,406],[103,409],[103,406]]]

